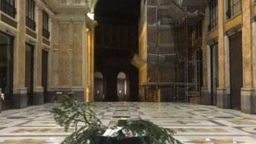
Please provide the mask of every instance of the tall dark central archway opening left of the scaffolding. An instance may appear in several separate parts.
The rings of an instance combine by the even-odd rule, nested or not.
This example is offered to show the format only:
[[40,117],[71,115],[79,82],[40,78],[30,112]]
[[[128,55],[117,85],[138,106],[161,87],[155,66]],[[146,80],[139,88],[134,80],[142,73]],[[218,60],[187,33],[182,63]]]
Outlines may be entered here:
[[131,75],[129,98],[121,98],[122,101],[137,101],[139,70],[129,59],[132,52],[139,53],[140,0],[98,1],[94,12],[97,22],[94,35],[94,69],[100,69],[106,76],[106,101],[119,100],[117,75],[120,71]]

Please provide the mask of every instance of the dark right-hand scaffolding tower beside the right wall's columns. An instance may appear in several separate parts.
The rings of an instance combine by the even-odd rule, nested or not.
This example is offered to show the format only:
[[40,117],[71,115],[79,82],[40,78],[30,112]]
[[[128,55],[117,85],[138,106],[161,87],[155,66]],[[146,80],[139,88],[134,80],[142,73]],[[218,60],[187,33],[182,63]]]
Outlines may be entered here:
[[[184,16],[175,25],[175,92],[177,101],[199,103],[202,86],[202,23],[200,14]],[[182,77],[182,78],[181,78]],[[182,91],[184,92],[181,92]],[[180,98],[183,95],[183,98]]]

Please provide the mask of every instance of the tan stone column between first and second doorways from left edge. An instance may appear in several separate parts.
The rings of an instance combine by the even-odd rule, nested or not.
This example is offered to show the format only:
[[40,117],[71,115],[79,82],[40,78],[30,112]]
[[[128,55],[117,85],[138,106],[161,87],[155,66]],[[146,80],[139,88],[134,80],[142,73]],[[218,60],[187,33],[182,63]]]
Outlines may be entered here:
[[14,109],[27,107],[27,88],[25,87],[25,48],[26,48],[26,1],[18,1],[18,45],[16,46],[16,60],[14,67],[17,67],[17,73],[14,73],[14,79],[17,79],[17,90],[14,90],[12,106]]

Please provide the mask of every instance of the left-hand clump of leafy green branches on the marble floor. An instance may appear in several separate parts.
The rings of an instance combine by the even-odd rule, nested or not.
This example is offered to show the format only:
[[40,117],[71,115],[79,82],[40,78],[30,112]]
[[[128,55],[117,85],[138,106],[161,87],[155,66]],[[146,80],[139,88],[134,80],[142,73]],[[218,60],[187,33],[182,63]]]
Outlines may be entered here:
[[[91,110],[92,103],[77,103],[68,96],[63,97],[63,103],[60,107],[54,107],[51,110],[54,120],[64,126],[65,132],[68,131],[70,126],[75,128],[75,132],[66,137],[62,144],[70,143],[91,143],[97,144],[99,136],[102,135],[106,126],[103,126]],[[77,126],[80,123],[81,128]]]

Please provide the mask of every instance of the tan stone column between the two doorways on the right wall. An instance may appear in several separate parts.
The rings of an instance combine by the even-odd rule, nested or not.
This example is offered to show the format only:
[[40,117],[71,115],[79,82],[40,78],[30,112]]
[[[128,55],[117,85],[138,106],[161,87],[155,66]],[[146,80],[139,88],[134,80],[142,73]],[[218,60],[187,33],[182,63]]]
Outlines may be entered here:
[[219,20],[219,87],[217,88],[217,107],[230,108],[230,96],[226,94],[225,77],[225,45],[224,45],[224,1],[218,1],[218,20]]

